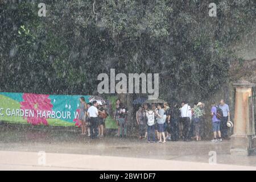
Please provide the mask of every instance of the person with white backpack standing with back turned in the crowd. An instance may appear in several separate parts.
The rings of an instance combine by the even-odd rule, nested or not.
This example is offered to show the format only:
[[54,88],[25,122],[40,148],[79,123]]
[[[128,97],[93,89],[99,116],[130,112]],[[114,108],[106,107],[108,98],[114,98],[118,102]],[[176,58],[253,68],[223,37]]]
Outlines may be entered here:
[[147,142],[150,143],[150,136],[152,135],[152,142],[155,143],[155,111],[148,107],[146,111],[147,117]]

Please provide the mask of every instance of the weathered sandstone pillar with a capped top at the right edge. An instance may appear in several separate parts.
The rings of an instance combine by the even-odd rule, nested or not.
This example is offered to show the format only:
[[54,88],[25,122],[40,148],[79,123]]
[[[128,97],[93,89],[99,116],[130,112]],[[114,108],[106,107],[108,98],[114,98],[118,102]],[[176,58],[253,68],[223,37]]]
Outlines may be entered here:
[[[248,81],[238,81],[236,87],[236,101],[234,108],[234,130],[231,136],[230,154],[249,155],[251,152],[252,138],[255,135],[254,115],[250,109],[249,100],[252,96],[252,84]],[[250,110],[250,112],[249,112]]]

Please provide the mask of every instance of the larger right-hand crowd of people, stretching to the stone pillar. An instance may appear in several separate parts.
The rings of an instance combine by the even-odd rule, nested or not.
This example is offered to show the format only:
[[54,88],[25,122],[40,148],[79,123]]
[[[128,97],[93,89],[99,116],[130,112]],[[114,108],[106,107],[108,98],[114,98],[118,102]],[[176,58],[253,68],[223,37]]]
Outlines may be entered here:
[[[166,143],[166,140],[184,141],[201,140],[201,129],[204,125],[205,109],[202,102],[195,103],[193,107],[187,102],[168,106],[164,104],[143,104],[136,113],[139,126],[139,138],[147,138],[148,143]],[[230,121],[229,106],[224,100],[217,104],[212,102],[210,110],[212,116],[212,142],[221,142],[222,135],[228,137],[227,122]],[[217,137],[218,134],[218,137]]]

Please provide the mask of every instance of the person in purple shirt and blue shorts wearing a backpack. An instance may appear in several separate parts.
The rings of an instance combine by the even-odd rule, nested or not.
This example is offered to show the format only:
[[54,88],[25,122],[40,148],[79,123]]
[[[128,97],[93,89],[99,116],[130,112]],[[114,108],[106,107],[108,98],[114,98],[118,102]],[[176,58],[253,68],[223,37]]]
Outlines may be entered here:
[[[220,118],[221,118],[221,109],[216,105],[215,101],[212,101],[212,109],[210,110],[212,115],[212,127],[213,127],[213,137],[212,142],[221,142],[221,131],[220,131]],[[218,133],[218,139],[217,139]]]

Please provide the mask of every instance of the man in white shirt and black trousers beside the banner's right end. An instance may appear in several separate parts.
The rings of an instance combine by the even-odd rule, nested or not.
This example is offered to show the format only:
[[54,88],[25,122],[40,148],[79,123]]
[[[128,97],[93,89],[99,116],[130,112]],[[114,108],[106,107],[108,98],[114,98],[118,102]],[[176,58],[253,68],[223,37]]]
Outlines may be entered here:
[[97,109],[97,101],[93,101],[93,105],[88,109],[88,115],[90,117],[90,137],[92,139],[96,138],[97,130],[98,130],[98,109]]

